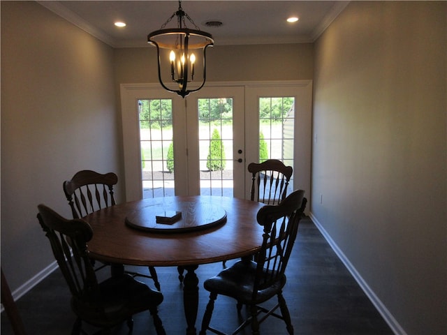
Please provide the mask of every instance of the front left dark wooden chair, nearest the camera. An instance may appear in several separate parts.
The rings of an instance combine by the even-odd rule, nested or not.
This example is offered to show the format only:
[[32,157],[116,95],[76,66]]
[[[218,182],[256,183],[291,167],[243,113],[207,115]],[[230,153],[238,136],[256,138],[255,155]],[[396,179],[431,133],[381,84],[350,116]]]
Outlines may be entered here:
[[161,292],[124,273],[98,283],[87,250],[93,231],[86,221],[67,220],[43,204],[38,205],[38,221],[71,292],[71,308],[78,317],[71,334],[83,332],[82,322],[100,327],[98,334],[110,334],[124,321],[132,330],[132,315],[142,311],[152,315],[156,334],[166,334],[157,311]]

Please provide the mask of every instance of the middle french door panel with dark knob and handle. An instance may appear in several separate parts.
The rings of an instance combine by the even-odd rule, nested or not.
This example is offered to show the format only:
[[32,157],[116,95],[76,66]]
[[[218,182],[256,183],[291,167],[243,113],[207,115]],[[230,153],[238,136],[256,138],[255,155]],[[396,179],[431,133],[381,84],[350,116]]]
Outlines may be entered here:
[[186,97],[189,193],[244,198],[244,87]]

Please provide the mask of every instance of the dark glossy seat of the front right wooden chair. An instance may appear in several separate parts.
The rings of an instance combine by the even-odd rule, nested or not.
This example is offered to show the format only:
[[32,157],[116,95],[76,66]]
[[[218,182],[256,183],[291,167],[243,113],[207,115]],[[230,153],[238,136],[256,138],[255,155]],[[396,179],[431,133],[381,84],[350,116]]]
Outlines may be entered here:
[[[268,274],[268,272],[265,272]],[[217,295],[233,297],[241,304],[261,304],[267,301],[284,288],[286,276],[281,276],[272,285],[258,290],[256,300],[253,300],[253,285],[256,276],[256,262],[240,260],[234,265],[223,269],[217,276],[208,278],[203,286],[205,290],[215,292]]]

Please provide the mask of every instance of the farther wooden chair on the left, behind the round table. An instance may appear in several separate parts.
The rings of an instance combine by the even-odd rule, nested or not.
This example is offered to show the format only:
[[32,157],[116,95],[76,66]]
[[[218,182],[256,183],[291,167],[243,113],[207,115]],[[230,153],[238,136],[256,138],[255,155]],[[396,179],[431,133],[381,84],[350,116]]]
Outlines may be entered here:
[[[71,208],[73,218],[82,218],[98,209],[114,206],[115,196],[113,187],[118,183],[115,173],[100,174],[91,170],[77,172],[71,180],[64,181],[64,193]],[[96,267],[96,271],[105,265]],[[112,265],[112,273],[124,271],[123,265]],[[126,271],[132,276],[152,278],[157,290],[160,290],[159,278],[154,267],[149,267],[149,275]]]

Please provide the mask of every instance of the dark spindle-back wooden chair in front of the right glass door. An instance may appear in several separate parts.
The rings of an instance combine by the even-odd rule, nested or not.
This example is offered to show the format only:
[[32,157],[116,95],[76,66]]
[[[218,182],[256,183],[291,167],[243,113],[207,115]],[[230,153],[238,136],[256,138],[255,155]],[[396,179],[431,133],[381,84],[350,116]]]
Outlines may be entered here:
[[263,163],[250,163],[251,200],[264,204],[278,204],[286,198],[288,183],[293,168],[277,159],[268,159]]

